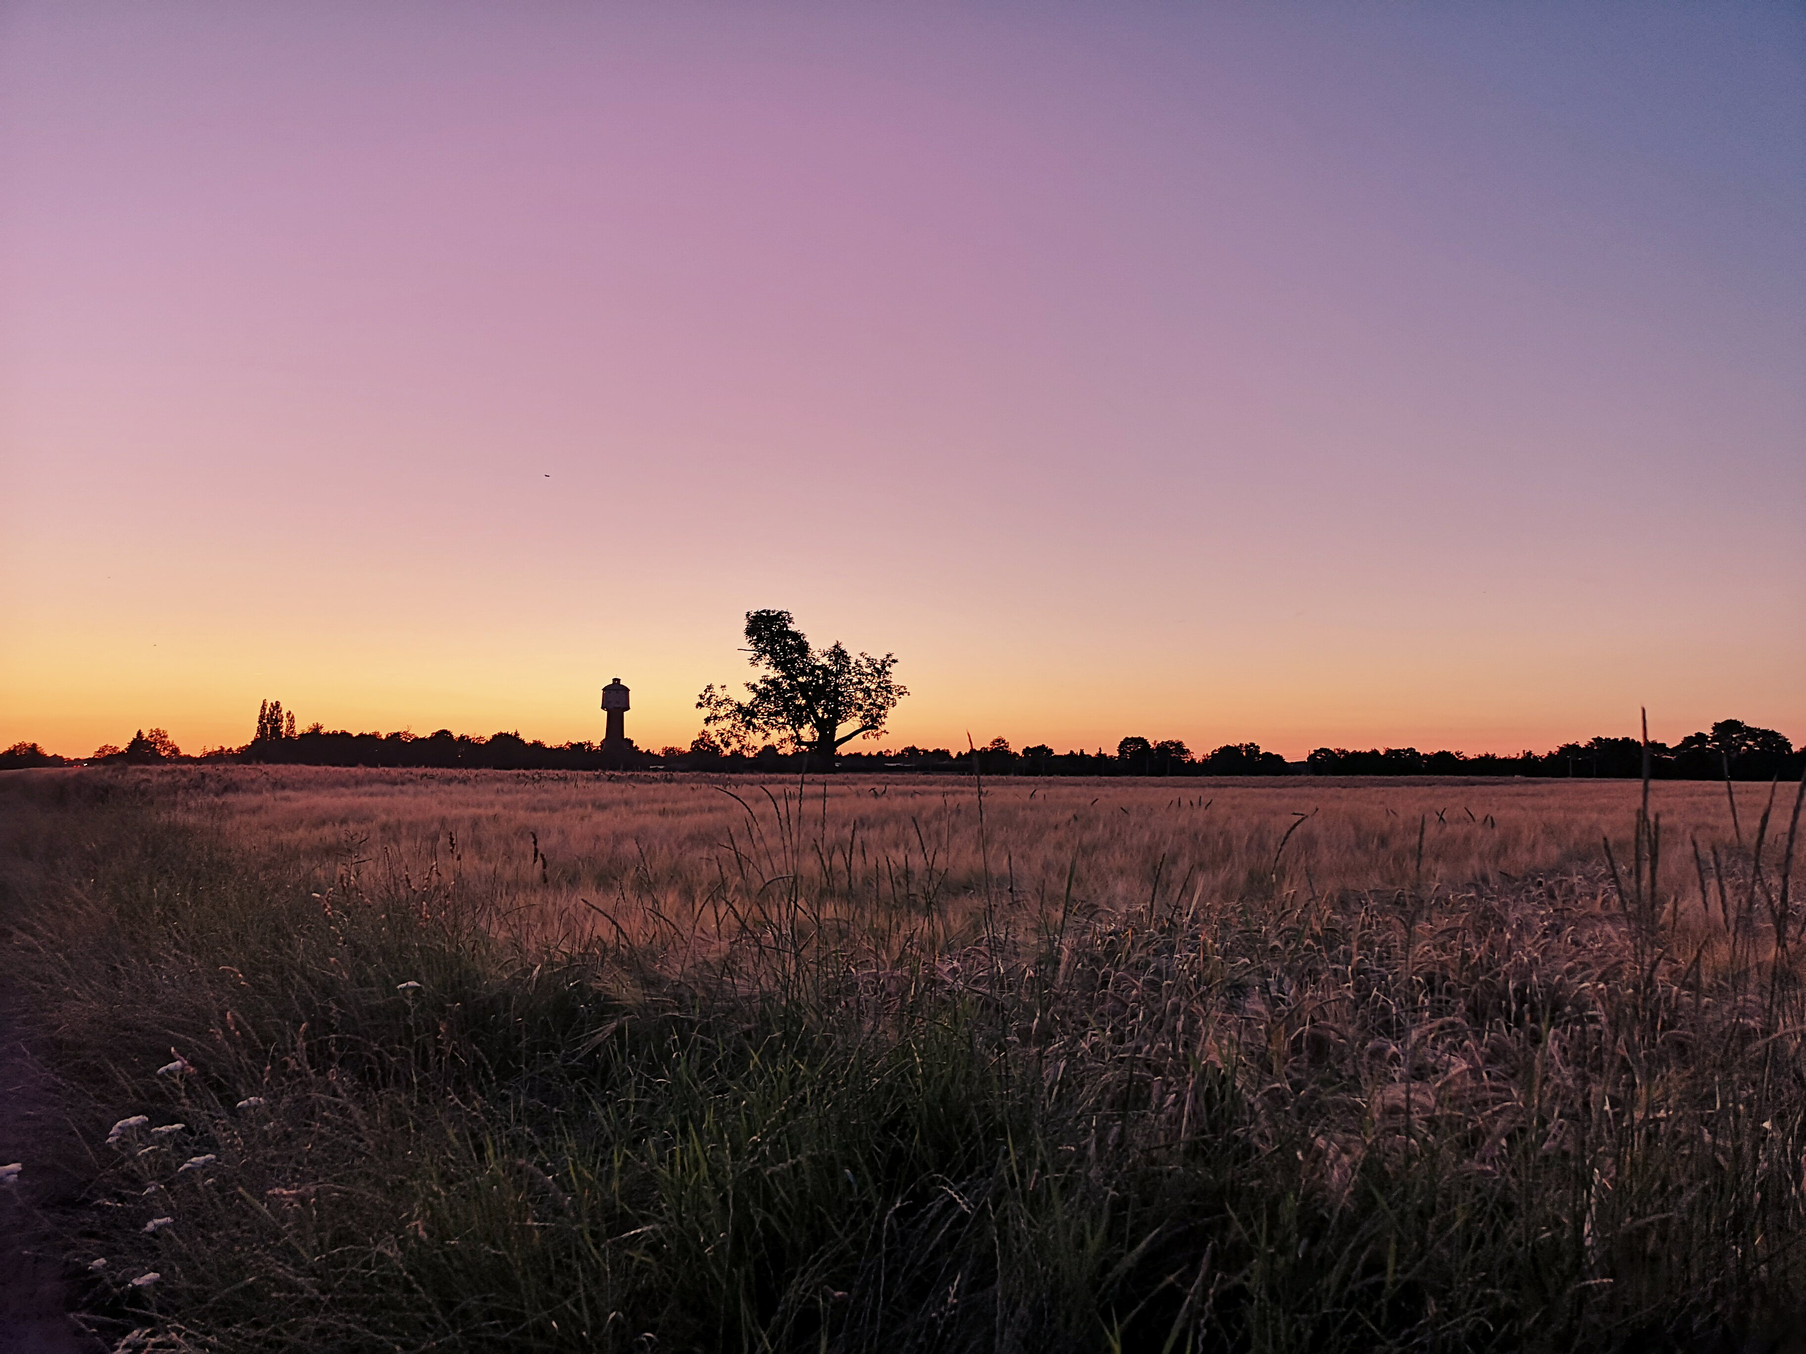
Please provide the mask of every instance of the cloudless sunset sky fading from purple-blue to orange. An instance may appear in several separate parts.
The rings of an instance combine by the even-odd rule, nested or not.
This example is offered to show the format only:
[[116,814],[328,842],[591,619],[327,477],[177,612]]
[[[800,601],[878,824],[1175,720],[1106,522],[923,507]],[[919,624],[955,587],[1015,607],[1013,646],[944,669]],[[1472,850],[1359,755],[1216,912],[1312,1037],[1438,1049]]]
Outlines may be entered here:
[[5,4],[0,746],[1806,738],[1806,9]]

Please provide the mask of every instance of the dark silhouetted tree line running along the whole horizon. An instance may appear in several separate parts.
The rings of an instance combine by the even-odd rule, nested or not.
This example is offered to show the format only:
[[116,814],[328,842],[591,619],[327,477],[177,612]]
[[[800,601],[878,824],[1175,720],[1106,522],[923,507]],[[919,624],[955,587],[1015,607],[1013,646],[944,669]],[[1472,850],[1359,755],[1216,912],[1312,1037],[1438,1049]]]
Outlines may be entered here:
[[[13,744],[0,751],[0,769],[65,765],[70,758],[43,751],[34,742]],[[795,773],[820,765],[820,751],[811,747],[724,746],[704,729],[688,747],[647,751],[628,742],[625,751],[609,751],[600,742],[545,744],[522,738],[518,731],[491,733],[488,738],[437,729],[415,733],[350,733],[312,724],[298,729],[294,713],[280,700],[265,700],[258,709],[251,742],[219,747],[200,756],[182,756],[181,747],[163,729],[139,729],[125,747],[103,744],[87,762],[152,765],[159,762],[269,762],[289,765],[341,767],[468,767],[498,771],[766,771]],[[1178,738],[1150,740],[1129,737],[1114,751],[1057,753],[1047,744],[1013,749],[1004,738],[961,751],[948,747],[883,749],[872,753],[842,751],[836,762],[845,771],[903,771],[921,774],[986,776],[1640,776],[1643,744],[1636,738],[1598,737],[1568,742],[1548,753],[1524,751],[1517,756],[1497,753],[1420,753],[1416,747],[1318,747],[1302,764],[1286,762],[1259,744],[1224,744],[1194,755]],[[1690,733],[1678,744],[1649,744],[1651,774],[1662,780],[1784,780],[1806,771],[1806,747],[1773,729],[1727,719],[1710,733]]]

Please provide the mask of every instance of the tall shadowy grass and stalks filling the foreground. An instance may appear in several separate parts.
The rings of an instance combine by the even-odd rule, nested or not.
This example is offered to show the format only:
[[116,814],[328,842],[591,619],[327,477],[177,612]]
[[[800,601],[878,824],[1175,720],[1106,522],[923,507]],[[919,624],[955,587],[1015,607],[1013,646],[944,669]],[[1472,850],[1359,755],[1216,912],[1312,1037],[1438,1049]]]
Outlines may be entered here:
[[256,839],[195,791],[0,780],[116,1340],[1705,1347],[1806,1291],[1773,807],[1681,894],[1634,803],[1616,886],[1604,850],[1450,881],[1427,811],[1356,886],[1306,870],[1327,814],[1029,876],[1028,787],[982,829],[968,787],[874,870],[816,787],[735,787],[706,886],[648,858],[547,917],[470,836]]

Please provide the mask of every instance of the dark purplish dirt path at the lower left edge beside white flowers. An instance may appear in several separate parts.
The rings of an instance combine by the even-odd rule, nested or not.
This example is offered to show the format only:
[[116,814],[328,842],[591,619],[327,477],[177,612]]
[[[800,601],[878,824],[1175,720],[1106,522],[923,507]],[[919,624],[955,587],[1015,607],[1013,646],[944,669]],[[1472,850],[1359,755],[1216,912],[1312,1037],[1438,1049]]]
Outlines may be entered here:
[[[99,1341],[67,1314],[69,1291],[40,1210],[67,1199],[74,1175],[33,1152],[33,1125],[51,1112],[47,1078],[5,1029],[0,1015],[0,1166],[22,1163],[0,1184],[0,1354],[92,1354]],[[34,1159],[36,1157],[36,1159]]]

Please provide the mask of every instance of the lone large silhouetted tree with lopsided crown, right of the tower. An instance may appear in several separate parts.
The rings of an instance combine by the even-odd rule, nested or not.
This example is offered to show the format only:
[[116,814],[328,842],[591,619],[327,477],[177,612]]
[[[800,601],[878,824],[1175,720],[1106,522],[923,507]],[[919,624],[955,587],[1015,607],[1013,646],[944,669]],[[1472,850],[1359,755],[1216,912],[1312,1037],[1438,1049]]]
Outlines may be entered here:
[[[892,677],[896,655],[854,657],[838,639],[809,648],[789,612],[746,612],[748,663],[764,675],[746,684],[746,699],[710,682],[695,700],[704,729],[717,729],[733,749],[777,737],[784,747],[805,751],[822,771],[834,769],[834,753],[854,738],[878,738],[885,720],[908,690]],[[840,729],[851,724],[847,733]]]

